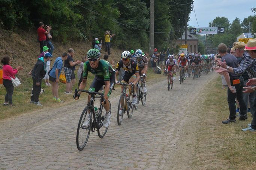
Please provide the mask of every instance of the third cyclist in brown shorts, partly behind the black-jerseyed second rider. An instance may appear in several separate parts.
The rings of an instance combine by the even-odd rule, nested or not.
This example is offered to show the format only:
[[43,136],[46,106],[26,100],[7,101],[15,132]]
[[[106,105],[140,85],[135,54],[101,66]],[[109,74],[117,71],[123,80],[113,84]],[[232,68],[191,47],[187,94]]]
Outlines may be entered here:
[[[148,61],[141,49],[137,49],[135,52],[137,58],[137,64],[139,67],[140,76],[143,75],[144,82],[146,82],[146,73],[148,71]],[[147,92],[146,84],[144,84],[144,92]]]

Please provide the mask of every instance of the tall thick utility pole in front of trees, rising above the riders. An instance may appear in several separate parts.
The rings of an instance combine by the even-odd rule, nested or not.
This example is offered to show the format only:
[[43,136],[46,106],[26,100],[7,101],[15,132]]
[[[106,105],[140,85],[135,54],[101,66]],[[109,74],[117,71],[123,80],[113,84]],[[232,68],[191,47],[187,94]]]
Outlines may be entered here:
[[154,35],[154,0],[150,0],[150,55],[154,53],[155,49],[155,35]]

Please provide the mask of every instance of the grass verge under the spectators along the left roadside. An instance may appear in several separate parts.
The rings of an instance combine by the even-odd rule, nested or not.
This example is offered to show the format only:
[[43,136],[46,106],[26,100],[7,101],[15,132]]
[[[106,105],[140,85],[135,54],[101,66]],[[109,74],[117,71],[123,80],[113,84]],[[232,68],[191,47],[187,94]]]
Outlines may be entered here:
[[[154,82],[158,82],[163,80],[165,77],[162,75],[157,75],[152,72],[152,69],[148,70],[148,85],[152,84]],[[94,78],[94,75],[89,73],[88,79],[87,79],[87,86],[86,89],[89,88],[92,80]],[[73,100],[73,95],[67,95],[64,94],[65,89],[66,89],[66,84],[59,84],[59,97],[61,100],[65,101],[63,103],[58,103],[53,100],[52,92],[51,92],[51,87],[46,86],[44,80],[42,80],[42,88],[44,89],[44,93],[39,95],[39,101],[41,104],[43,104],[42,107],[36,106],[35,104],[29,103],[30,101],[30,93],[31,89],[33,86],[32,78],[27,78],[24,81],[21,81],[21,85],[18,86],[17,88],[14,89],[14,94],[13,94],[13,103],[14,107],[9,107],[9,106],[3,106],[3,103],[5,101],[5,94],[6,94],[6,89],[3,85],[0,85],[0,120],[5,119],[5,118],[10,118],[12,116],[18,116],[22,113],[27,113],[30,111],[38,110],[39,108],[47,109],[47,107],[52,108],[52,107],[61,107],[66,104],[69,104],[71,102],[74,102]],[[75,88],[78,88],[78,79],[75,83],[75,86],[73,88],[73,91]],[[119,95],[120,94],[120,87],[117,86],[115,87],[115,91],[112,92],[111,97],[114,95]],[[82,95],[81,99],[85,99],[87,95]],[[40,110],[41,112],[42,110]]]

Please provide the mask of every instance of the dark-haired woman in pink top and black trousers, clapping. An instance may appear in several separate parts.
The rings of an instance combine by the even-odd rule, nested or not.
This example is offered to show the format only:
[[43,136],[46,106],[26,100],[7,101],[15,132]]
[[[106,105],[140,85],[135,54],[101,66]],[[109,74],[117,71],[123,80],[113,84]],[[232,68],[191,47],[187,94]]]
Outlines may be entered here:
[[15,75],[18,73],[19,70],[23,70],[21,66],[18,66],[17,69],[13,69],[10,64],[12,64],[12,60],[10,57],[4,57],[1,60],[3,64],[3,85],[6,88],[6,95],[5,95],[5,103],[4,106],[13,106],[12,104],[12,94],[14,92],[14,86],[12,85],[11,78],[15,79]]

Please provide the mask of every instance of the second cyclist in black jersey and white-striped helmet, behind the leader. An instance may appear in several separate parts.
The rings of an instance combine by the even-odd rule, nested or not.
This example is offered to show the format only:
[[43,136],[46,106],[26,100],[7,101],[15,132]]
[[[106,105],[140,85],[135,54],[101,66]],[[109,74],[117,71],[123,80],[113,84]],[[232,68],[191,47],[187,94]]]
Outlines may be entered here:
[[[137,62],[131,59],[131,53],[129,51],[122,52],[122,60],[120,60],[116,65],[116,84],[120,84],[120,82],[117,79],[117,76],[121,68],[125,70],[125,74],[122,77],[122,81],[126,82],[127,84],[135,86],[140,79],[139,67]],[[121,88],[123,91],[123,86]],[[133,104],[137,103],[136,93],[134,93],[133,95],[132,103]]]

